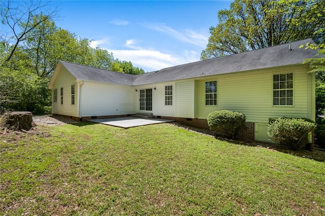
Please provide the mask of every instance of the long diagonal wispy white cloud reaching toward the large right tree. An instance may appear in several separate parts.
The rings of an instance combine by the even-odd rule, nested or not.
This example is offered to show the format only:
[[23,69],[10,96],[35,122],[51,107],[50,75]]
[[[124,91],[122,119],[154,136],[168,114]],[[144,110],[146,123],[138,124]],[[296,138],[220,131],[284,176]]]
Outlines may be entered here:
[[166,34],[169,34],[173,37],[175,37],[178,40],[181,40],[183,42],[187,42],[189,44],[197,45],[200,47],[205,48],[205,46],[208,43],[208,35],[195,32],[190,29],[185,29],[183,31],[177,31],[175,29],[172,29],[169,26],[166,26],[165,24],[145,24],[145,27],[155,30],[164,32]]

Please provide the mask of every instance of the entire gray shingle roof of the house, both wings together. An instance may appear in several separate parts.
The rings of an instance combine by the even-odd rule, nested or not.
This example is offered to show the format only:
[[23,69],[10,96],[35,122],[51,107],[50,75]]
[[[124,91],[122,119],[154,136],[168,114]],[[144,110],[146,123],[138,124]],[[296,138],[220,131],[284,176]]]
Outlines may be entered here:
[[[307,42],[314,43],[312,39],[305,39],[260,50],[164,68],[137,76],[64,61],[60,61],[60,63],[80,80],[140,85],[301,64],[305,59],[315,58],[317,55],[317,50],[299,49],[301,45],[305,45]],[[289,49],[289,45],[291,49]]]

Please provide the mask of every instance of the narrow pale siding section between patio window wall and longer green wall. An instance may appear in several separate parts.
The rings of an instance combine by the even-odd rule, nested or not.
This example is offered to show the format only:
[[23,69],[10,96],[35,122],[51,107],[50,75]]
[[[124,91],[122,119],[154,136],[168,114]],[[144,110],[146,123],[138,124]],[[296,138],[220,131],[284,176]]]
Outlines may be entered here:
[[194,118],[194,90],[194,80],[176,82],[176,117]]

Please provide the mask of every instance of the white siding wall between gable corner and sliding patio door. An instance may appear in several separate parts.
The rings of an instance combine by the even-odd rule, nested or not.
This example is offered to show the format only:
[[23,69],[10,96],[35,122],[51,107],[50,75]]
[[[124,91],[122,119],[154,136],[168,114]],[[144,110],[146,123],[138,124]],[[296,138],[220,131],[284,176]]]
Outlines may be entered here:
[[80,116],[134,114],[133,87],[84,81],[81,87]]

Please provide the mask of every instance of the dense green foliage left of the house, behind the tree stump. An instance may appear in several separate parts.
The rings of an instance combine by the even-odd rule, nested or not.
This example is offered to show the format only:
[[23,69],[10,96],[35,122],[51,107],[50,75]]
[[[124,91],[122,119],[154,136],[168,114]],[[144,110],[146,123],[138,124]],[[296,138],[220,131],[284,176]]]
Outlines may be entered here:
[[[4,56],[3,49],[0,49]],[[14,60],[14,61],[13,61]],[[24,110],[43,113],[49,106],[50,91],[47,81],[34,73],[28,54],[18,47],[11,61],[1,59],[0,108],[1,111]]]

